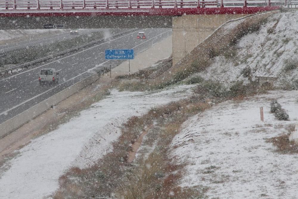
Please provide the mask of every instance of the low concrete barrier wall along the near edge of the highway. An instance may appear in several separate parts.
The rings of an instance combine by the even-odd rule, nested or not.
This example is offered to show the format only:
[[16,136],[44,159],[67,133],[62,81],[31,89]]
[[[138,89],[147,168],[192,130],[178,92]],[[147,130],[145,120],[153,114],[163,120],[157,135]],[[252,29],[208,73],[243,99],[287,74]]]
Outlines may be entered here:
[[92,74],[88,78],[73,84],[72,86],[56,93],[55,95],[52,95],[46,100],[3,122],[2,124],[0,124],[0,138],[4,137],[5,135],[8,135],[13,130],[32,120],[33,118],[40,115],[47,109],[51,108],[52,105],[58,104],[60,101],[68,98],[72,94],[93,83],[97,79],[99,79],[97,73]]

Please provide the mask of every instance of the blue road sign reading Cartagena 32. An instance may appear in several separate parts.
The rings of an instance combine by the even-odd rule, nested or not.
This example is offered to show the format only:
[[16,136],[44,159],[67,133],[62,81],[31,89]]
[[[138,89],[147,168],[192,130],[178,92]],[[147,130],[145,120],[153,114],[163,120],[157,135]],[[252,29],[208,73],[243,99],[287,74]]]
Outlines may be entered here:
[[134,49],[105,50],[105,59],[134,59]]

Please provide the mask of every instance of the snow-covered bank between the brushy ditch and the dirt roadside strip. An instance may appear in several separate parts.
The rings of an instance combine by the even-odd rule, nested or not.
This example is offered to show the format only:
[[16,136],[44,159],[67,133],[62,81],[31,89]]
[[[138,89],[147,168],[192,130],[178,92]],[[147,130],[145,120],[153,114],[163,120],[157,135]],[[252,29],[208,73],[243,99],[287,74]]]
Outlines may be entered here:
[[[43,198],[58,188],[58,178],[71,166],[89,166],[111,150],[131,116],[151,107],[186,98],[190,86],[158,93],[118,92],[93,104],[58,129],[33,139],[19,155],[0,168],[0,198]],[[3,168],[9,165],[9,169]]]

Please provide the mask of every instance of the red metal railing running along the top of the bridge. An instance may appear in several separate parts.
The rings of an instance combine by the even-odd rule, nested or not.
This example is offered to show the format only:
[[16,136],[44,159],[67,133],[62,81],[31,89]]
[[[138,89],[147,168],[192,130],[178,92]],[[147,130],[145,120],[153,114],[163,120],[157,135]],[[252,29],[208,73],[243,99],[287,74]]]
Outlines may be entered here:
[[0,0],[0,10],[298,6],[298,0]]

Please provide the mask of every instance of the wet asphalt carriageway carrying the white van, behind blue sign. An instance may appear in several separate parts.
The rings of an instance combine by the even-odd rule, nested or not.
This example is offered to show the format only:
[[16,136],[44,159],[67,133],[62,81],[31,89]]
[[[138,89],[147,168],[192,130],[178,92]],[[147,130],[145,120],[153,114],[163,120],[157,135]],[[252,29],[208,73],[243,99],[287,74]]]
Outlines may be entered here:
[[[0,124],[46,98],[91,75],[90,70],[105,67],[105,49],[134,49],[135,55],[171,34],[170,29],[145,29],[147,39],[137,39],[138,31],[103,41],[72,55],[60,57],[9,78],[0,80]],[[152,38],[152,39],[151,39]],[[150,40],[151,39],[151,40]],[[122,60],[114,61],[120,64]],[[117,66],[117,65],[116,65]],[[59,84],[40,86],[41,68],[59,71]]]

